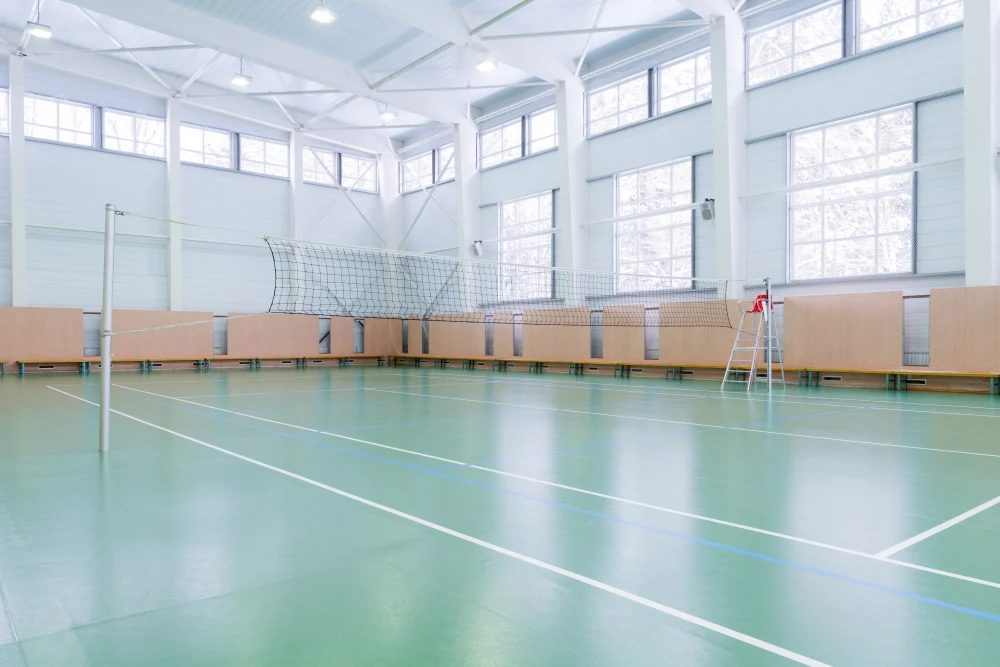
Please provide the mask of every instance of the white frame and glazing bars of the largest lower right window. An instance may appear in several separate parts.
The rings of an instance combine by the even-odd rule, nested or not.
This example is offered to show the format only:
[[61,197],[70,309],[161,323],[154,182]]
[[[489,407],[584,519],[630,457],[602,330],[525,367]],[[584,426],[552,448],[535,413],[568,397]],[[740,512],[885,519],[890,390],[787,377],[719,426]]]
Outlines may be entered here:
[[[911,128],[911,137],[910,137],[910,142],[911,142],[911,156],[910,156],[909,165],[912,166],[912,165],[917,164],[917,136],[918,136],[918,129],[917,129],[917,123],[918,123],[918,119],[917,119],[917,104],[914,103],[914,102],[910,102],[910,103],[905,103],[905,104],[894,105],[894,106],[891,106],[891,107],[885,107],[883,109],[879,109],[879,110],[876,110],[876,111],[870,111],[868,113],[859,114],[857,116],[850,116],[850,117],[847,117],[847,118],[841,118],[841,119],[838,119],[838,120],[829,121],[829,122],[826,122],[826,123],[821,123],[819,125],[805,127],[805,128],[801,128],[801,129],[798,129],[798,130],[793,130],[793,131],[788,132],[786,134],[786,136],[787,136],[787,142],[788,142],[788,144],[787,144],[788,145],[788,174],[787,174],[787,179],[788,180],[787,180],[787,182],[788,182],[789,186],[790,187],[795,187],[796,185],[798,185],[797,183],[794,182],[794,178],[795,178],[794,174],[795,174],[795,170],[796,170],[795,169],[795,144],[794,144],[794,136],[795,135],[807,134],[809,132],[816,132],[816,131],[822,131],[822,132],[825,133],[825,131],[827,129],[831,128],[831,127],[836,127],[838,125],[847,125],[847,124],[854,123],[854,122],[857,122],[857,121],[865,120],[867,118],[875,118],[876,119],[876,121],[875,121],[875,123],[876,123],[876,125],[875,125],[875,127],[876,127],[875,152],[872,153],[872,154],[870,154],[870,156],[874,157],[876,159],[876,165],[877,165],[878,164],[878,158],[879,158],[879,156],[884,155],[884,153],[881,153],[879,151],[879,145],[878,145],[878,141],[879,141],[879,129],[878,129],[878,120],[877,120],[878,117],[882,116],[882,115],[886,115],[886,114],[896,113],[896,112],[899,112],[899,111],[905,111],[905,110],[909,110],[910,111],[912,119],[913,119],[913,121],[912,121],[913,122],[913,127]],[[824,134],[824,137],[825,137],[825,134]],[[823,151],[825,153],[825,147],[823,148]],[[899,151],[891,151],[891,152],[899,152]],[[858,156],[858,157],[849,158],[849,159],[859,159],[859,158],[862,158],[862,157],[866,157],[866,156]],[[838,160],[837,162],[842,162],[842,161],[843,160]],[[823,162],[821,162],[818,165],[814,165],[814,166],[825,167],[827,164],[828,163],[824,159]],[[877,171],[879,171],[881,169],[887,169],[887,168],[891,168],[891,167],[877,167],[874,170],[874,172],[868,172],[868,173],[875,173],[875,172],[877,172]],[[810,190],[810,188],[803,188],[801,190],[796,190],[796,191],[793,191],[793,192],[789,192],[788,195],[786,196],[786,225],[787,225],[786,226],[786,232],[785,232],[785,234],[786,234],[786,236],[785,236],[785,238],[786,238],[786,243],[785,243],[785,266],[786,266],[785,279],[786,279],[786,281],[788,283],[805,283],[805,284],[808,284],[808,283],[816,283],[816,282],[830,282],[830,281],[844,282],[844,281],[872,280],[872,279],[882,279],[882,278],[892,278],[892,277],[905,277],[905,276],[916,275],[916,273],[917,273],[917,177],[916,177],[916,171],[915,170],[907,172],[907,173],[912,176],[912,178],[910,178],[910,185],[909,185],[908,190],[899,189],[899,190],[886,190],[886,191],[882,191],[882,190],[879,189],[879,185],[876,183],[875,190],[872,193],[867,194],[867,195],[856,195],[856,196],[853,196],[853,197],[841,197],[841,198],[837,198],[837,199],[831,199],[829,201],[825,200],[825,199],[821,199],[817,203],[802,204],[802,205],[796,205],[794,203],[795,195],[798,194],[798,193],[800,193],[800,192],[807,192],[808,190]],[[864,174],[861,174],[861,175],[858,175],[858,177],[856,179],[853,179],[852,181],[844,182],[841,185],[848,185],[848,184],[856,182],[856,181],[866,181],[866,180],[873,180],[873,179],[877,181],[877,179],[879,179],[879,178],[880,177],[878,177],[878,176],[874,176],[873,177],[873,176],[866,176]],[[881,177],[881,178],[886,178],[886,177]],[[822,188],[822,187],[824,187],[824,186],[820,186],[820,188]],[[879,233],[879,229],[878,229],[878,199],[879,199],[879,197],[881,197],[883,195],[886,195],[886,194],[892,194],[893,192],[903,192],[903,191],[908,191],[909,192],[909,194],[910,194],[910,203],[911,203],[911,206],[910,206],[910,228],[909,228],[909,231],[907,232],[909,234],[909,236],[910,236],[910,263],[909,263],[909,268],[907,270],[905,270],[905,271],[884,272],[884,273],[883,272],[879,272],[878,271],[878,239],[879,239],[879,237],[880,236],[896,235],[896,234],[899,234],[900,232],[887,232],[885,234],[880,234]],[[871,273],[860,273],[860,274],[851,274],[851,275],[843,275],[843,276],[825,276],[825,275],[822,275],[822,273],[823,273],[823,267],[825,265],[825,247],[826,247],[826,244],[828,242],[827,239],[825,238],[825,232],[824,232],[825,217],[822,215],[822,207],[826,203],[861,201],[861,200],[865,200],[865,199],[874,199],[875,202],[876,202],[876,205],[875,205],[876,219],[875,219],[875,223],[874,223],[875,224],[875,232],[874,232],[874,234],[864,235],[864,236],[845,237],[845,238],[852,238],[852,239],[858,239],[858,238],[862,238],[863,239],[863,238],[869,238],[869,237],[873,238],[873,240],[875,242],[875,265],[874,265],[874,269],[875,270],[873,272],[871,272]],[[821,209],[821,218],[820,218],[820,222],[819,222],[820,234],[821,234],[820,239],[818,241],[804,241],[804,242],[801,242],[801,243],[796,243],[796,241],[795,241],[795,218],[794,218],[794,210],[796,208],[806,208],[806,207],[809,207],[809,206],[819,206],[820,209]],[[836,240],[837,239],[830,239],[830,241],[836,241]],[[795,276],[795,264],[794,264],[794,262],[795,262],[795,247],[798,246],[798,245],[805,245],[805,244],[809,244],[809,243],[818,243],[820,245],[820,261],[821,261],[821,264],[820,264],[820,267],[821,267],[820,273],[821,273],[821,275],[819,275],[819,276],[817,276],[815,278],[798,278],[798,277]]]

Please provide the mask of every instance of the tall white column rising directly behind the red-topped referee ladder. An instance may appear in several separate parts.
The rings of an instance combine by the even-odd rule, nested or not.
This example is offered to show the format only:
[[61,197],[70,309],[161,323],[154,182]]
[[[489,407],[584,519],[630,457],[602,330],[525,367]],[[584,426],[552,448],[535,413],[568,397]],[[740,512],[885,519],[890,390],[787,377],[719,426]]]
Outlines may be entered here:
[[[716,277],[729,296],[742,295],[746,279],[746,90],[743,22],[732,10],[709,17],[712,54],[712,150],[715,167]],[[754,278],[765,276],[754,276]]]

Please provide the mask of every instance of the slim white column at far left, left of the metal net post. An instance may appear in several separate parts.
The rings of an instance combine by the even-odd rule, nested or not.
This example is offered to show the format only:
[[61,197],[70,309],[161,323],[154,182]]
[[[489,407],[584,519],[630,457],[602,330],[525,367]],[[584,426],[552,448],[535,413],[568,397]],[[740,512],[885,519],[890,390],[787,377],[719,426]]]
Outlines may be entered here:
[[11,54],[10,100],[10,271],[11,304],[28,305],[28,233],[25,194],[24,58]]

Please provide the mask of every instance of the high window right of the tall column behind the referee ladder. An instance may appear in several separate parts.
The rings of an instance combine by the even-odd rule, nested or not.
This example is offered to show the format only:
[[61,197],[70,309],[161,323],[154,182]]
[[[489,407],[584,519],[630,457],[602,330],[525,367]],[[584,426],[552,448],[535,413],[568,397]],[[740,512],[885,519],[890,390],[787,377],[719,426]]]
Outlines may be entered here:
[[841,3],[810,11],[747,36],[747,84],[816,67],[843,55]]

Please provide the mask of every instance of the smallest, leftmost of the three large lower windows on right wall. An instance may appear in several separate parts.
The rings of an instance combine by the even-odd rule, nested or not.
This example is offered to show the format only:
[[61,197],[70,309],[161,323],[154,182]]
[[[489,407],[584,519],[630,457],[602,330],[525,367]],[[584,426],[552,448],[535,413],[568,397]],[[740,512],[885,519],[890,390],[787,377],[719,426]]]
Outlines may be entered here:
[[[552,193],[525,197],[500,205],[500,298],[552,297]],[[542,267],[533,270],[526,267]]]

